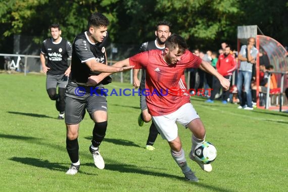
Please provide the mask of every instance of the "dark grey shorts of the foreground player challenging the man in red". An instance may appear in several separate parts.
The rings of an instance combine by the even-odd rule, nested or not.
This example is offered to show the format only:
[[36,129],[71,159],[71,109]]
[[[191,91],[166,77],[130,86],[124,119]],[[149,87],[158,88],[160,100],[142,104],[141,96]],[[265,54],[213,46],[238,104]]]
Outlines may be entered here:
[[[66,86],[65,93],[65,123],[78,124],[85,116],[85,110],[92,117],[95,111],[107,112],[106,95],[101,94],[101,89],[98,87],[97,91],[91,93],[91,88],[88,86],[81,86],[76,83],[69,82]],[[81,89],[81,92],[79,92]],[[96,93],[98,92],[98,93]]]

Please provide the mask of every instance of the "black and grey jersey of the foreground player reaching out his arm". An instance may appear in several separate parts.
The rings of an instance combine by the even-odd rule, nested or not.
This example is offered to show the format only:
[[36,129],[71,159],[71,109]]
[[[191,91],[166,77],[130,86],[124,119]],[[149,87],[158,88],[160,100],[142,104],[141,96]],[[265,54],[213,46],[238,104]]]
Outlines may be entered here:
[[99,75],[86,65],[86,61],[96,59],[98,63],[106,64],[106,43],[108,33],[102,42],[93,43],[89,40],[87,32],[78,34],[73,42],[70,78],[75,83],[86,83],[91,75]]

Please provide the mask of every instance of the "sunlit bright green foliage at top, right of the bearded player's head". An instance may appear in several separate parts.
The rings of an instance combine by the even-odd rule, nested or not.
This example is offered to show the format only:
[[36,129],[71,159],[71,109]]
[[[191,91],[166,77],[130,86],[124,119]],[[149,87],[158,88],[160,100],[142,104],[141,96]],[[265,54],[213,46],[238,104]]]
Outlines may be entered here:
[[235,30],[233,18],[236,18],[239,9],[237,1],[187,0],[181,1],[181,4],[177,1],[159,1],[157,11],[162,11],[163,15],[172,19],[172,23],[176,23],[173,30],[185,37],[189,44],[204,42],[199,45],[201,48],[207,46],[205,43],[211,46],[214,40],[228,38],[227,33],[223,33],[220,38],[218,36],[227,28]]

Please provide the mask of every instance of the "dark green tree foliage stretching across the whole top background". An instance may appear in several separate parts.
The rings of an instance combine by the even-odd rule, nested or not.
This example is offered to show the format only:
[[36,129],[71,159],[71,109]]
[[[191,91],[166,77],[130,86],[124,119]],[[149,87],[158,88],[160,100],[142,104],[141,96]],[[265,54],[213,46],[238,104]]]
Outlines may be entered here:
[[[220,41],[236,44],[238,25],[258,25],[265,35],[288,44],[288,4],[284,0],[25,0],[2,1],[0,32],[33,35],[40,43],[49,36],[52,23],[62,26],[63,35],[73,41],[86,29],[87,17],[101,12],[111,22],[114,43],[140,44],[155,38],[155,25],[168,20],[172,32],[182,35],[191,48],[218,49]],[[0,42],[1,43],[1,42]],[[0,50],[3,44],[0,44]],[[215,49],[214,49],[215,50]]]

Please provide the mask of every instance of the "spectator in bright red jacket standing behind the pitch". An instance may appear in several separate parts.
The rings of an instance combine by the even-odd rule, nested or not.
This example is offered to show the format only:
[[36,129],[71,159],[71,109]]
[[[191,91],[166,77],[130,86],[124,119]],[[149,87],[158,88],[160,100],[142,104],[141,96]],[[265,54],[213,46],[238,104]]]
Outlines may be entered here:
[[[219,56],[218,62],[216,64],[216,68],[218,73],[224,76],[226,79],[231,78],[233,71],[236,68],[234,57],[230,54],[230,46],[227,45],[225,47],[224,54]],[[206,103],[214,103],[215,95],[218,93],[221,87],[220,81],[215,79],[213,82],[213,90],[211,92],[211,97],[206,101]],[[227,99],[229,97],[229,90],[223,90],[222,93],[222,103],[227,104]]]

